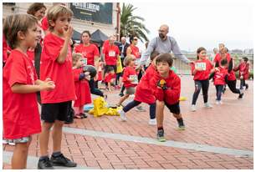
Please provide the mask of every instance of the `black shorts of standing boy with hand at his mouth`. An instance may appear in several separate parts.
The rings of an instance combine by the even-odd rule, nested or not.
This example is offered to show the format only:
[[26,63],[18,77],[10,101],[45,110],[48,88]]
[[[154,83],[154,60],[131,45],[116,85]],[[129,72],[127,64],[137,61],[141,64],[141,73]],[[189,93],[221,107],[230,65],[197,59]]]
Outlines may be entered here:
[[41,119],[47,123],[54,123],[55,120],[65,121],[71,108],[71,101],[55,104],[42,104]]

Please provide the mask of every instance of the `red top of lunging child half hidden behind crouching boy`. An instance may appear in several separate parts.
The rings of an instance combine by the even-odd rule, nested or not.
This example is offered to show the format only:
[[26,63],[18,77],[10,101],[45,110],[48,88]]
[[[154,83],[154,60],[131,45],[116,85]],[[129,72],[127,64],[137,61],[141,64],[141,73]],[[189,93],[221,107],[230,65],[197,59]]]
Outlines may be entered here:
[[153,91],[150,86],[150,80],[152,76],[156,74],[156,68],[153,64],[146,68],[146,73],[142,76],[136,87],[136,94],[134,98],[136,101],[146,104],[154,104],[156,102],[156,98],[153,95]]

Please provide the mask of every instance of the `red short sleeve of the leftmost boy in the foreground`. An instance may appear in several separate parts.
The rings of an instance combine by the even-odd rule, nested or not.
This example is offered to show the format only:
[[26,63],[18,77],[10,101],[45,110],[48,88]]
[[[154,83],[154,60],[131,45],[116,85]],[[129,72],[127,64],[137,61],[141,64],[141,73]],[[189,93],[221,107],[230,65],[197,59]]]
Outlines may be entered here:
[[[15,54],[11,54],[12,56]],[[18,54],[19,55],[19,54]],[[13,58],[12,57],[12,65],[11,68],[8,68],[10,70],[10,78],[9,78],[9,85],[10,87],[13,86],[14,83],[28,83],[28,73],[26,71],[25,63],[23,61],[23,58]]]

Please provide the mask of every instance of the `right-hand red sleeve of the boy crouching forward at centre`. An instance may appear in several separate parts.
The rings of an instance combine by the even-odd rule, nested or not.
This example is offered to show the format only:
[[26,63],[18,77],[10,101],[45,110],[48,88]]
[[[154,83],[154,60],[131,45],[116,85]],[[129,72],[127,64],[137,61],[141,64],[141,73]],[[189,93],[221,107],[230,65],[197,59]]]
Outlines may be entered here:
[[170,97],[173,103],[177,102],[180,99],[181,94],[181,79],[175,78],[172,80],[172,87],[167,89],[164,93],[167,97]]

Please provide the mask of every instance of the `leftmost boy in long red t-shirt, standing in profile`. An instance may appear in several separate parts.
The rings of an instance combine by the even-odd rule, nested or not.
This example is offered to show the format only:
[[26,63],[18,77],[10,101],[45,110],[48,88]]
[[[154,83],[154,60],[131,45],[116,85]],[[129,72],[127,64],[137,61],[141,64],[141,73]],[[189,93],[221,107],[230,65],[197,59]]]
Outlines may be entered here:
[[26,169],[31,135],[41,132],[36,92],[52,90],[49,78],[37,78],[28,48],[37,44],[37,19],[28,14],[8,16],[3,33],[13,51],[3,68],[3,138],[15,143],[12,169]]

